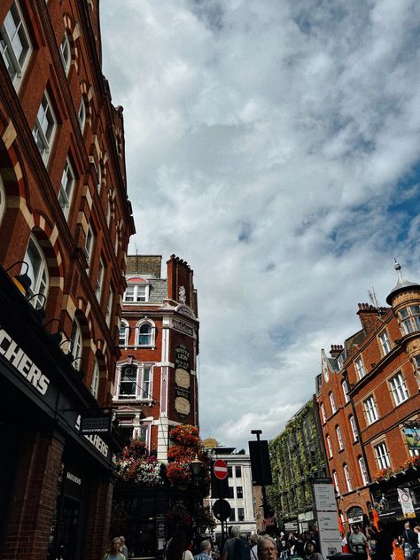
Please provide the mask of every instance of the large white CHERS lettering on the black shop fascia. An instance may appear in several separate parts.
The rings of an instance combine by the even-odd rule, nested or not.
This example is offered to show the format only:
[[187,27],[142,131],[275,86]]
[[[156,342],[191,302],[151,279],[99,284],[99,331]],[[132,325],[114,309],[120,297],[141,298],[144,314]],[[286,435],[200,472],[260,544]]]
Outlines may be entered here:
[[34,362],[16,344],[4,329],[0,328],[0,354],[14,366],[38,393],[45,394],[50,385],[50,379],[43,375]]

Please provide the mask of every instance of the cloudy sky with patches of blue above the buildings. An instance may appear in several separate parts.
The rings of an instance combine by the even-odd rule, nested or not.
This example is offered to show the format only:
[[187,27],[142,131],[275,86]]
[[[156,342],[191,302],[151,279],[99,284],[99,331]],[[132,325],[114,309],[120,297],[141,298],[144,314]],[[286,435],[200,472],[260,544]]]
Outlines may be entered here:
[[357,303],[420,282],[418,0],[101,0],[130,250],[188,261],[203,437],[315,390]]

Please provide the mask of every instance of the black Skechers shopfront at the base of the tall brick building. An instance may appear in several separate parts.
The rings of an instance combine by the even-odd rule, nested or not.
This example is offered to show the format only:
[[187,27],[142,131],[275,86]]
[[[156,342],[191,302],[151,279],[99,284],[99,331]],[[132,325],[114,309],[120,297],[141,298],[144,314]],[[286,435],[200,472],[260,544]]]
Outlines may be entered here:
[[118,441],[81,433],[104,413],[58,342],[0,268],[0,558],[87,560],[108,537]]

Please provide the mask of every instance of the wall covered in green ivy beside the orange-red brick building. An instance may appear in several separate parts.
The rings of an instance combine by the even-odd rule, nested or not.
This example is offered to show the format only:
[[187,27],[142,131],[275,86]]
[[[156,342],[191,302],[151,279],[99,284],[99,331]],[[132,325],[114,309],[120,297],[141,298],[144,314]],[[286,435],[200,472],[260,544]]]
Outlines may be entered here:
[[269,442],[273,485],[268,486],[267,496],[277,525],[313,508],[311,482],[326,476],[321,442],[312,399]]

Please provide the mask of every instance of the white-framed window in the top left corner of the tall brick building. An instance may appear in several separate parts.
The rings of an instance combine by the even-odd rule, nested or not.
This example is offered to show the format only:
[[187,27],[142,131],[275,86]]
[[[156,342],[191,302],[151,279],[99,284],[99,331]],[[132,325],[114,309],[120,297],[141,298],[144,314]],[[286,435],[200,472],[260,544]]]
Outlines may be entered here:
[[32,44],[25,20],[19,3],[15,0],[0,27],[0,54],[4,59],[14,89],[19,89],[31,52]]

